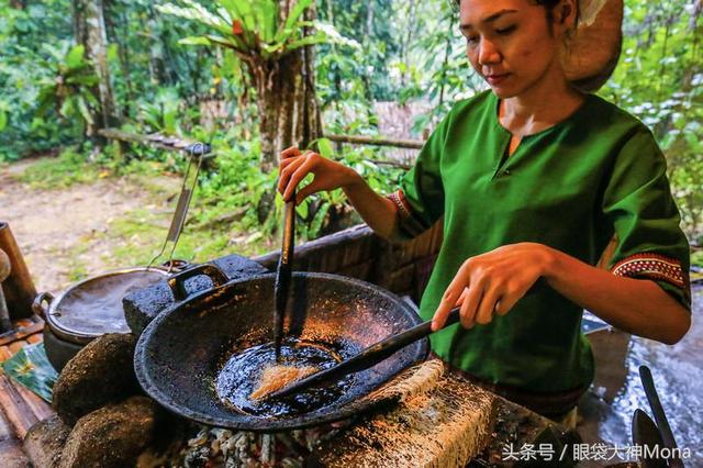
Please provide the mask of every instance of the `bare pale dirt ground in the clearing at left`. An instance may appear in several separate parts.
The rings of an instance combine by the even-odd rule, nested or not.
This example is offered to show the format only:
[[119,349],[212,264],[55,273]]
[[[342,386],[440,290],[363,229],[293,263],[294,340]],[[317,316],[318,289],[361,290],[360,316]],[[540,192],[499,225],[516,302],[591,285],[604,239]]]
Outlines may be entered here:
[[[0,221],[10,224],[37,291],[57,292],[75,282],[70,271],[75,275],[77,263],[89,276],[131,266],[111,265],[111,243],[119,239],[101,234],[112,220],[136,208],[159,209],[153,196],[126,179],[66,189],[36,189],[18,181],[16,175],[35,163],[0,168]],[[178,180],[166,183],[178,186]]]

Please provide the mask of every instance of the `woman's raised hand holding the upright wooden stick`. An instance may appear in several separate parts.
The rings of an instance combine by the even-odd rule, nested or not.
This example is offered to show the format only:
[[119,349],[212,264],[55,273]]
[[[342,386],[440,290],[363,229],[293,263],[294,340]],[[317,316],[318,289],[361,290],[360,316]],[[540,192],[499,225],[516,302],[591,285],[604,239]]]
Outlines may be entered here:
[[300,204],[305,197],[324,190],[334,190],[362,182],[361,177],[352,168],[322,157],[314,152],[301,153],[295,146],[281,153],[278,191],[288,201],[301,180],[313,174],[312,182],[295,194]]

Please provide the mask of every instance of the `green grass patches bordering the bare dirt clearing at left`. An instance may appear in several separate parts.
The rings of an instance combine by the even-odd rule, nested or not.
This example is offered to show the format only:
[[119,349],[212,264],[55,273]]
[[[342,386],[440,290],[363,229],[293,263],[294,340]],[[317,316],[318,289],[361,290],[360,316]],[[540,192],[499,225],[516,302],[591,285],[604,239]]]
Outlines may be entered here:
[[[70,281],[97,274],[89,271],[86,263],[86,256],[96,255],[96,250],[103,252],[98,255],[103,264],[110,265],[108,269],[147,265],[164,244],[180,190],[180,176],[169,170],[172,165],[134,160],[115,167],[114,164],[86,163],[85,159],[83,155],[65,151],[58,157],[33,163],[15,177],[32,188],[49,190],[121,178],[140,187],[149,201],[146,207],[111,220],[104,232],[94,232],[70,248],[66,265]],[[97,159],[100,160],[100,156]],[[196,190],[174,258],[201,263],[230,254],[252,257],[278,248],[278,239],[257,235],[256,230],[252,231],[238,221],[203,226],[200,220],[214,218],[221,211],[222,207],[205,203]],[[168,250],[159,261],[166,260],[167,256]]]

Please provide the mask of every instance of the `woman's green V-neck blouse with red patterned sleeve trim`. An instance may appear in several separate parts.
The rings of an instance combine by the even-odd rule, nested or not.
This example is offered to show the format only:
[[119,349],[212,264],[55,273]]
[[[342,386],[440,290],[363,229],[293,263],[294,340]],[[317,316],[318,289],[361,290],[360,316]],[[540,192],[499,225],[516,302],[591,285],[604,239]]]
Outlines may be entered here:
[[[458,102],[400,190],[389,196],[413,237],[444,215],[444,242],[421,302],[429,319],[469,257],[536,242],[595,265],[612,238],[613,274],[655,280],[690,310],[689,244],[679,229],[666,161],[649,130],[596,96],[557,125],[511,134],[490,91]],[[527,391],[584,388],[593,357],[582,309],[538,281],[488,325],[435,333],[442,358],[486,381]]]

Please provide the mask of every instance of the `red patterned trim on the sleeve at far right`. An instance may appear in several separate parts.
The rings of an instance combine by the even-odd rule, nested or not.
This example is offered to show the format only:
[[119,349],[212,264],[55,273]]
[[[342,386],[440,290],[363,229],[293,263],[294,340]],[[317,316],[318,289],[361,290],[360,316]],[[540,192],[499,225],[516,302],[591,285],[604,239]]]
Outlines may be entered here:
[[666,281],[679,289],[685,290],[688,276],[681,268],[681,263],[674,258],[658,254],[636,254],[620,260],[611,271],[614,275],[628,278],[648,278]]

